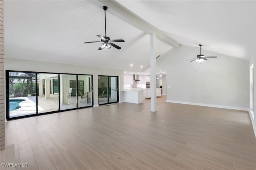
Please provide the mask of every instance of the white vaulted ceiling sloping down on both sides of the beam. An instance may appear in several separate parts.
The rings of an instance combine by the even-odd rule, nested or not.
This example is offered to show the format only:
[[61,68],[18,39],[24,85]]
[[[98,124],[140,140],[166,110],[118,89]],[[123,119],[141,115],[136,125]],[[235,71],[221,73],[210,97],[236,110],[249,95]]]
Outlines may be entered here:
[[[140,72],[150,65],[146,26],[177,44],[200,43],[205,50],[241,59],[248,60],[256,47],[256,1],[112,2],[123,10],[110,6],[106,11],[106,34],[125,42],[116,43],[120,50],[100,51],[101,43],[83,42],[99,41],[96,34],[104,36],[102,6],[109,1],[5,1],[5,57]],[[157,56],[171,45],[158,38]]]

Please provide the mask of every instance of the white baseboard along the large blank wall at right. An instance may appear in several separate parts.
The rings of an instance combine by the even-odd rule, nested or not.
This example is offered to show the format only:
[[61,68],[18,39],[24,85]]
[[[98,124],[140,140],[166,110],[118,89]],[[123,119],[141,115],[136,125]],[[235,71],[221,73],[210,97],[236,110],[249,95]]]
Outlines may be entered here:
[[180,104],[186,104],[186,105],[206,106],[206,107],[218,107],[223,109],[234,109],[234,110],[240,110],[240,111],[249,111],[249,108],[246,108],[246,107],[232,107],[232,106],[211,105],[211,104],[205,104],[205,103],[191,103],[191,102],[172,101],[172,100],[166,100],[166,102],[180,103]]

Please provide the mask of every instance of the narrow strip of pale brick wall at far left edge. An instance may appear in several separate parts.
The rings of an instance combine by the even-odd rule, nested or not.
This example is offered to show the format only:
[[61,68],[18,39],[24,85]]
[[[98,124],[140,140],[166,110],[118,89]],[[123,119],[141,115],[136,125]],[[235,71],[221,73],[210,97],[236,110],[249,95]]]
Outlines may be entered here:
[[0,0],[0,150],[5,148],[4,0]]

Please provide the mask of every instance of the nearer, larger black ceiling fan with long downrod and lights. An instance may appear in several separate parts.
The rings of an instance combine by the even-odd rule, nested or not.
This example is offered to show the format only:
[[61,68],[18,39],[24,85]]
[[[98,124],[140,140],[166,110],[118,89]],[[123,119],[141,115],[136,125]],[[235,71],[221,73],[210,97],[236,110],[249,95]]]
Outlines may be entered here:
[[[105,13],[105,36],[100,36],[100,35],[96,35],[98,36],[101,41],[97,41],[97,42],[103,42],[98,50],[102,50],[102,49],[110,49],[112,46],[115,47],[116,49],[121,49],[121,47],[119,47],[118,45],[112,43],[112,42],[124,42],[124,40],[111,40],[109,37],[106,36],[106,10],[108,9],[108,7],[103,6],[102,7]],[[84,43],[94,43],[94,42],[84,42]]]

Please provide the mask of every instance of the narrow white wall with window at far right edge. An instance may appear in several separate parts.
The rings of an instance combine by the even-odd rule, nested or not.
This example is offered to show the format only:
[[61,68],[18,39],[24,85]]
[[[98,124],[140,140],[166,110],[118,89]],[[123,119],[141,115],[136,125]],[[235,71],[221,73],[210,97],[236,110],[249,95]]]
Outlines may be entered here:
[[[253,74],[253,91],[254,91],[254,93],[253,93],[254,99],[253,100],[254,101],[252,101],[253,102],[253,110],[250,110],[249,113],[250,113],[250,118],[252,120],[254,134],[256,136],[256,115],[255,115],[255,113],[256,113],[256,49],[254,49],[254,51],[250,57],[249,64],[247,66],[248,70],[250,69],[250,66],[252,64],[254,65],[254,74]],[[249,85],[248,85],[248,87],[249,87]],[[252,115],[254,115],[254,117]]]

